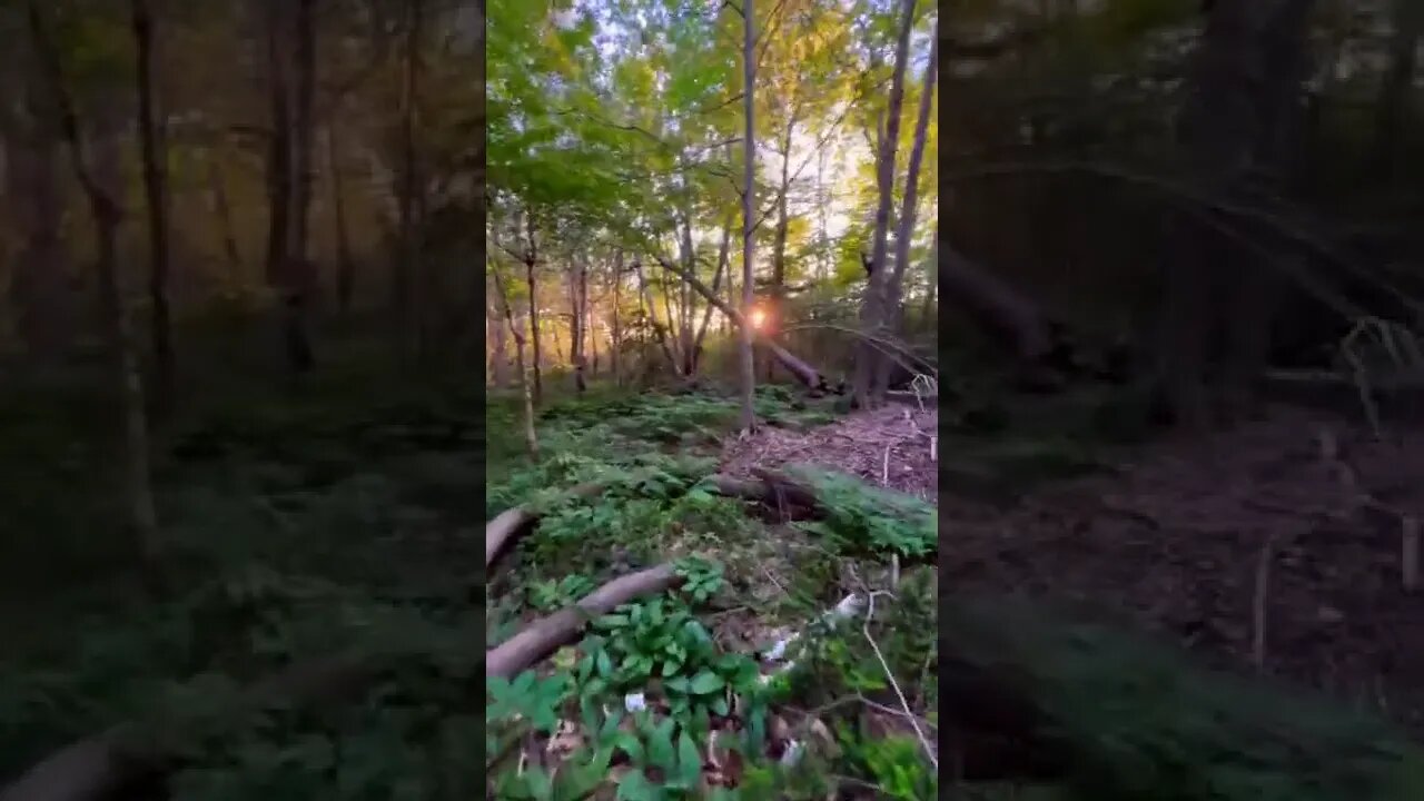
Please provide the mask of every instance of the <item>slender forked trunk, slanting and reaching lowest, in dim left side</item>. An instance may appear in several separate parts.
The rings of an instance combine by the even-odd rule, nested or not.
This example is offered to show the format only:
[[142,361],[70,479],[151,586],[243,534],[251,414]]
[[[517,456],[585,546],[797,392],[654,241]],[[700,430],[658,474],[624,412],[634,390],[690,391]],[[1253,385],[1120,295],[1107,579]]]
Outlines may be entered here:
[[128,526],[137,539],[144,562],[152,566],[159,554],[158,520],[154,513],[154,493],[150,476],[148,420],[144,416],[144,382],[140,375],[138,355],[134,351],[132,332],[118,278],[118,227],[124,210],[118,204],[120,191],[120,137],[124,128],[112,100],[101,103],[95,120],[93,164],[85,154],[85,141],[80,134],[78,117],[70,98],[68,87],[60,64],[54,41],[48,36],[38,0],[30,0],[30,33],[36,48],[50,74],[51,88],[58,105],[60,130],[68,144],[74,175],[84,188],[94,222],[98,251],[100,308],[104,329],[110,341],[114,388],[118,391],[118,406],[124,429],[124,500]]

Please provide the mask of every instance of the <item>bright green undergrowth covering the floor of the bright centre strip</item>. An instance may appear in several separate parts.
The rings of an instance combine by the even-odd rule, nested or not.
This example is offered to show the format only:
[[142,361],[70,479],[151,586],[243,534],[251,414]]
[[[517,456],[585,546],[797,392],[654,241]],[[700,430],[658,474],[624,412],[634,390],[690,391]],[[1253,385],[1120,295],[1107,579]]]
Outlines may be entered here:
[[[758,403],[780,425],[830,416],[776,388]],[[934,509],[795,466],[822,513],[768,523],[702,483],[715,469],[703,429],[725,433],[736,413],[733,398],[703,393],[553,406],[541,460],[490,485],[491,515],[540,512],[490,586],[491,643],[618,574],[676,559],[685,576],[672,593],[594,620],[545,667],[487,686],[496,797],[824,798],[839,784],[866,784],[891,798],[937,798],[920,741],[866,718],[871,704],[899,703],[893,686],[910,688],[917,715],[936,714],[934,572],[911,566],[933,560]],[[649,449],[674,433],[685,448]],[[602,492],[561,492],[587,480]],[[883,587],[891,556],[906,572],[896,600],[881,600],[870,620],[874,644],[859,623],[824,617],[847,591]],[[763,640],[802,636],[782,661],[763,663],[758,647],[770,643],[729,637],[731,620]],[[518,770],[518,754],[543,754],[545,741],[577,747]]]

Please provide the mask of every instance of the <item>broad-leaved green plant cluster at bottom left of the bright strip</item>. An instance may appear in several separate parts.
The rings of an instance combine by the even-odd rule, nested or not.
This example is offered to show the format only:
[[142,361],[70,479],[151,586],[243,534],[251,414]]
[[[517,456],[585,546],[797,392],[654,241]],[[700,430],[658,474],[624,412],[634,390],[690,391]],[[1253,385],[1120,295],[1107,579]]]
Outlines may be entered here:
[[[722,589],[721,567],[688,559],[676,569],[684,577],[681,596],[624,604],[595,620],[571,670],[547,677],[525,671],[513,681],[487,683],[486,761],[500,798],[585,798],[605,782],[615,757],[629,767],[618,780],[619,800],[701,797],[703,757],[698,744],[708,740],[713,720],[732,714],[740,715],[745,727],[721,738],[719,747],[738,750],[749,761],[760,754],[768,710],[758,666],[750,657],[718,648],[688,606]],[[665,714],[655,714],[658,706],[665,706]],[[575,708],[587,738],[581,751],[555,771],[508,770],[521,733],[553,735]],[[711,798],[755,797],[742,795],[746,791],[716,788]]]

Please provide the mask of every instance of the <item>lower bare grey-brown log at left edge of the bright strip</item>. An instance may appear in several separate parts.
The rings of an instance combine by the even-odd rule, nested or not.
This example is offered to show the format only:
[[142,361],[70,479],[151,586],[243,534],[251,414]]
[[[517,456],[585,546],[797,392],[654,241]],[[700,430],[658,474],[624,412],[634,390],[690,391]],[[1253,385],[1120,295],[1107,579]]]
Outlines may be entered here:
[[484,674],[501,678],[517,676],[561,646],[574,641],[591,619],[608,614],[637,597],[661,593],[679,580],[672,564],[659,564],[614,579],[577,604],[535,620],[486,651]]

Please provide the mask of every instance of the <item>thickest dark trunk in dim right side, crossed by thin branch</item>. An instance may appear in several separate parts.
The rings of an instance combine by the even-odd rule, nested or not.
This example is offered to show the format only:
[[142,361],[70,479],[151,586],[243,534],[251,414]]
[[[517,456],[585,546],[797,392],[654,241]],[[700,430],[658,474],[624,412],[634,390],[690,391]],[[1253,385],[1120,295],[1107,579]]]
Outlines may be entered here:
[[[1183,172],[1196,194],[1233,202],[1255,195],[1250,187],[1262,180],[1279,182],[1294,150],[1312,4],[1210,6],[1179,124]],[[1270,343],[1273,281],[1255,258],[1247,262],[1196,218],[1176,217],[1169,237],[1158,381],[1178,425],[1203,430],[1250,405]],[[1222,385],[1213,391],[1208,376],[1216,342],[1227,353]]]

